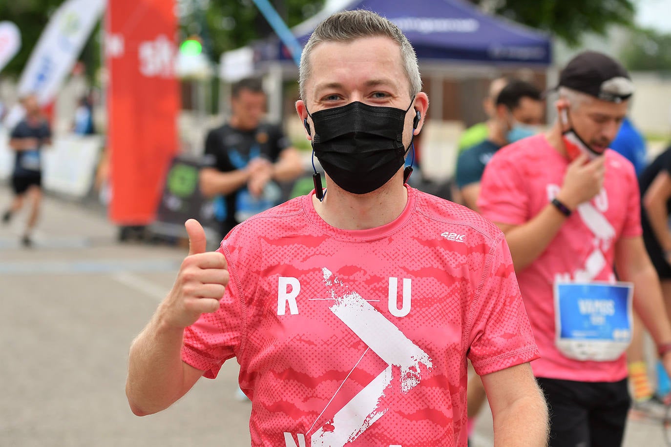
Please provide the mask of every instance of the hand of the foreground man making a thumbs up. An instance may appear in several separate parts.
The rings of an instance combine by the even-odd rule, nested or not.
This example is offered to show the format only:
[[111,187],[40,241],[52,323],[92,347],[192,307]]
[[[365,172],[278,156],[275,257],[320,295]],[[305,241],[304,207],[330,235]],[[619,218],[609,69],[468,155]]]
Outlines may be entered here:
[[226,259],[216,251],[205,251],[205,231],[195,219],[185,222],[189,235],[189,255],[184,259],[158,314],[164,324],[185,328],[203,313],[219,309],[229,276]]

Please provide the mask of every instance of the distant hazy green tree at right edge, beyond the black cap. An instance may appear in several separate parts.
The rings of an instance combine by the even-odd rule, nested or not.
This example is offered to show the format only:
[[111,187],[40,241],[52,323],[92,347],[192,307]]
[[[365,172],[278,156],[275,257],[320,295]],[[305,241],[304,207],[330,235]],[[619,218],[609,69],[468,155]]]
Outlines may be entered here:
[[620,57],[629,70],[671,72],[671,34],[634,29]]

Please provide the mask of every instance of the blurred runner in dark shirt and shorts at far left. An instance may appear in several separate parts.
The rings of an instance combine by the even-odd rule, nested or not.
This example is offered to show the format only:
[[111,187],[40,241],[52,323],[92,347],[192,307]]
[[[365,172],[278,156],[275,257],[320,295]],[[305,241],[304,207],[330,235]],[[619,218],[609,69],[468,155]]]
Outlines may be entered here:
[[51,144],[51,129],[42,117],[36,97],[23,99],[23,108],[25,118],[14,127],[9,139],[9,147],[16,152],[11,176],[15,196],[2,220],[3,223],[9,222],[11,216],[21,210],[23,199],[28,196],[32,206],[21,243],[30,247],[32,230],[37,223],[42,202],[42,148]]

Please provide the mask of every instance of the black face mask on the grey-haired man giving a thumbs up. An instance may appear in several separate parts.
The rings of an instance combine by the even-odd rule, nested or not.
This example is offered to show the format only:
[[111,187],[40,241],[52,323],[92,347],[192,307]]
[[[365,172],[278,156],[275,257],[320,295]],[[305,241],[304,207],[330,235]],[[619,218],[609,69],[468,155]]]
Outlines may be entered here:
[[366,194],[389,182],[405,163],[405,109],[358,101],[315,112],[312,148],[340,188]]

